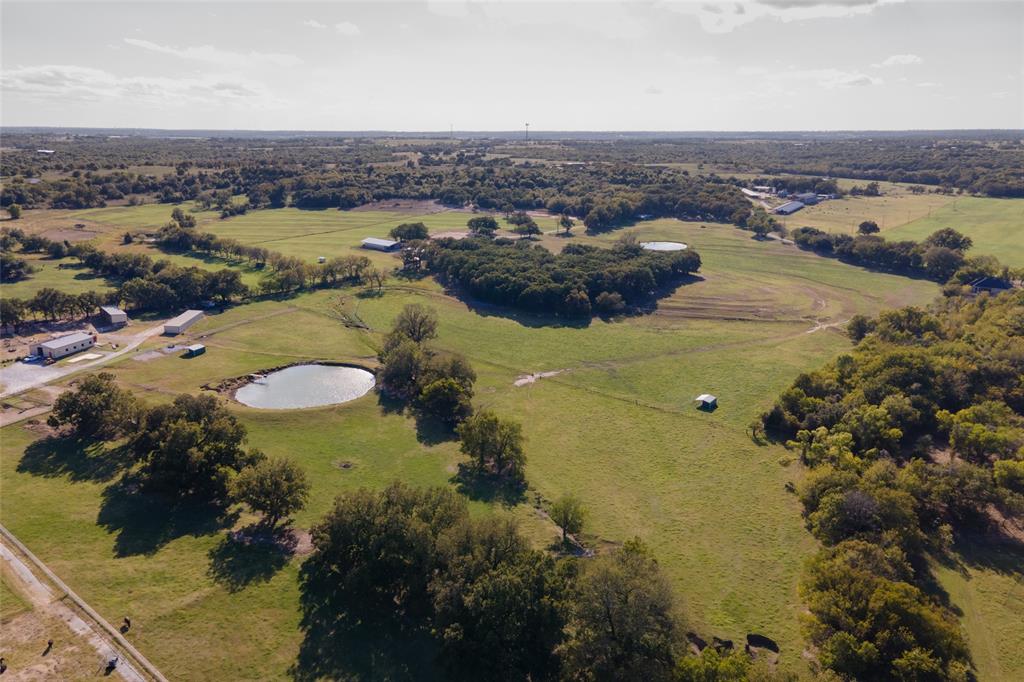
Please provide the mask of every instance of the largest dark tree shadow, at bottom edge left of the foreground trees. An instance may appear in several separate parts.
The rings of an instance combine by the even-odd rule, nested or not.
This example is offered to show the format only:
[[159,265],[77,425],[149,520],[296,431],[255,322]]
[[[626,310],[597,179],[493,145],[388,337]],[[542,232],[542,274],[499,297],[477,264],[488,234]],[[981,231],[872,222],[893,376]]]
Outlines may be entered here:
[[343,590],[315,556],[302,565],[299,590],[303,640],[289,671],[293,679],[441,679],[425,623]]

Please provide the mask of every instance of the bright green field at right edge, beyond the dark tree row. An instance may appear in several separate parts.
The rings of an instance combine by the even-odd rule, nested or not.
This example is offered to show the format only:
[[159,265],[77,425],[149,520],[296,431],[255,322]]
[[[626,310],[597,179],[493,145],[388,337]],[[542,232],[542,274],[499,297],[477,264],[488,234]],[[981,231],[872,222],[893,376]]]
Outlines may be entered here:
[[1011,267],[1024,267],[1024,200],[965,197],[884,235],[894,240],[921,240],[943,227],[974,240],[970,255],[991,255]]

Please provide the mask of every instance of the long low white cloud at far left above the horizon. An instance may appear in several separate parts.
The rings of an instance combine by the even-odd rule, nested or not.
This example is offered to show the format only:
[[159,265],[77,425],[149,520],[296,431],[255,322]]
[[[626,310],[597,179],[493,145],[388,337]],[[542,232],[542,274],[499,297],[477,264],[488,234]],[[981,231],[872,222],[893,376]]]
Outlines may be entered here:
[[232,76],[121,77],[99,69],[70,65],[3,71],[0,73],[0,89],[9,93],[68,100],[132,98],[161,104],[246,101],[249,105],[258,99],[265,102],[271,100],[262,84]]

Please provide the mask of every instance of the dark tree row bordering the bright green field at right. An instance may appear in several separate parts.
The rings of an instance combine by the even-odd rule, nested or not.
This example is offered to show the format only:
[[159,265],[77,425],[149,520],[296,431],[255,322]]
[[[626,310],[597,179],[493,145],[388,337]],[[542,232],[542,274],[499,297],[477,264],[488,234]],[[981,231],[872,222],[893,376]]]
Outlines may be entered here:
[[874,233],[878,225],[861,223],[856,237],[824,232],[816,227],[798,227],[791,238],[801,249],[845,262],[896,272],[918,273],[946,282],[968,263],[965,256],[971,238],[945,227],[924,242],[889,242]]

